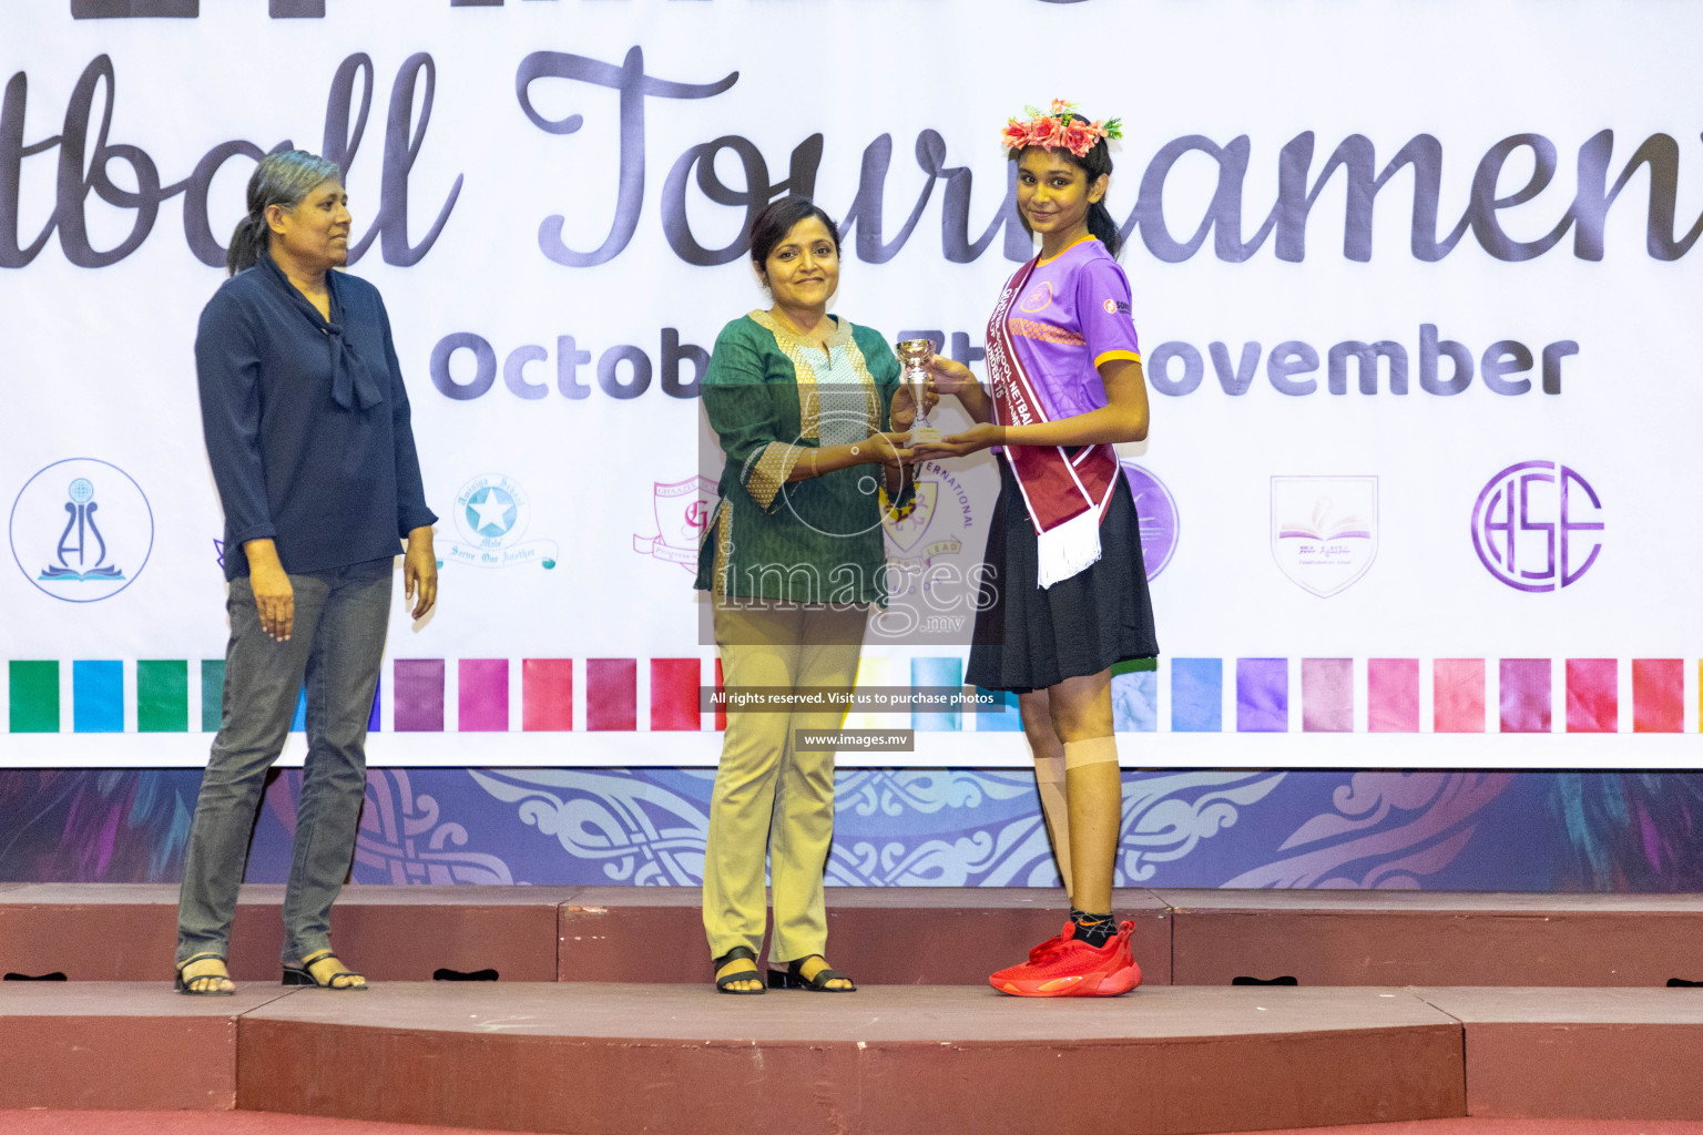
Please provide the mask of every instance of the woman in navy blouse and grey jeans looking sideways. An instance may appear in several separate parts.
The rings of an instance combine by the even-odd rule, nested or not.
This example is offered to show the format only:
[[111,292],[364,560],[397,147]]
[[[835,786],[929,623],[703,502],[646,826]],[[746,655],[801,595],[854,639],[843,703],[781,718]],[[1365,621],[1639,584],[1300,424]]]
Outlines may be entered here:
[[177,989],[230,994],[225,968],[266,769],[307,684],[307,774],[284,892],[284,984],[364,989],[330,950],[354,854],[366,723],[402,539],[414,618],[438,599],[409,396],[378,289],[349,262],[335,163],[262,158],[232,237],[232,277],[201,313],[196,376],[225,507],[230,645],[218,737],[189,832]]

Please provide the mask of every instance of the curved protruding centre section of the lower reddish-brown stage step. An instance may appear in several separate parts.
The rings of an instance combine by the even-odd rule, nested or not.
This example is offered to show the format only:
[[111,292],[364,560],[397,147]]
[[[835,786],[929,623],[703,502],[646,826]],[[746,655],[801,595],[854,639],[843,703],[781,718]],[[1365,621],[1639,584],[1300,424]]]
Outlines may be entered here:
[[[1459,1115],[1459,1026],[1373,990],[375,989],[242,1019],[238,1099],[531,1132],[1219,1132]],[[1092,1130],[1093,1120],[1088,1128]]]

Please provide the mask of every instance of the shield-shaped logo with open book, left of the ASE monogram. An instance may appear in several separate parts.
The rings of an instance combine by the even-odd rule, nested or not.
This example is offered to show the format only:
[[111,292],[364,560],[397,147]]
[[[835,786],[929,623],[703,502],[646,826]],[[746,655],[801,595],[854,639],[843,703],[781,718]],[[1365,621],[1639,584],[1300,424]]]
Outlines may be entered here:
[[1303,590],[1328,599],[1378,558],[1376,476],[1274,476],[1272,558]]

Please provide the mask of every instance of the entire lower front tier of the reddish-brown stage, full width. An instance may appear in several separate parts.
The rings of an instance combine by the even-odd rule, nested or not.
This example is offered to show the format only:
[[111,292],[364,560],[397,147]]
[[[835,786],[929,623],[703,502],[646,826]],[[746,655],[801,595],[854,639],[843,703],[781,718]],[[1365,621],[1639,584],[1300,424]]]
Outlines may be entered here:
[[0,987],[0,1109],[523,1132],[1243,1132],[1461,1115],[1703,1118],[1703,990],[392,982]]

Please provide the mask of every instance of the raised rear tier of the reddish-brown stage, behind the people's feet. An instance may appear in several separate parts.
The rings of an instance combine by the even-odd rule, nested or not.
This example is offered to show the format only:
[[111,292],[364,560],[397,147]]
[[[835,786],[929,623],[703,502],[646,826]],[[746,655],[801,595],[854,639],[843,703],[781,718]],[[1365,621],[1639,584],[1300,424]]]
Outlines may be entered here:
[[[697,888],[349,887],[337,948],[375,980],[702,982]],[[232,972],[278,975],[283,887],[244,887]],[[1703,980],[1703,895],[1121,890],[1148,985],[1666,985]],[[1037,888],[828,888],[834,965],[870,985],[981,985],[1064,921]],[[177,888],[0,885],[0,973],[157,980]]]

